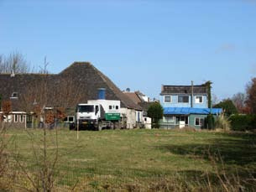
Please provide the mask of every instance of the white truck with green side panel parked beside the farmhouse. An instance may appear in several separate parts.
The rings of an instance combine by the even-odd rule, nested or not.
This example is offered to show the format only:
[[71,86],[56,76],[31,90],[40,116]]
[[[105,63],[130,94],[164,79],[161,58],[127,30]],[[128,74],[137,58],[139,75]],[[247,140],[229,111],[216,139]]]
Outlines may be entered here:
[[75,122],[71,123],[71,129],[98,130],[103,128],[120,127],[121,101],[114,100],[89,100],[86,104],[76,106]]

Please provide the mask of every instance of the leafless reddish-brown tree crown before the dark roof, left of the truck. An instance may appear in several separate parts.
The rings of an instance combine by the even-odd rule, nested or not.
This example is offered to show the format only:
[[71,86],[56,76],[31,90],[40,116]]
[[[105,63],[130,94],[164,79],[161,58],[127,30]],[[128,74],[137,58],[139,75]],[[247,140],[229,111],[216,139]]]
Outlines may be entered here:
[[[21,108],[27,113],[34,112],[37,121],[44,119],[46,125],[51,124],[51,121],[45,122],[52,118],[50,114],[54,115],[55,120],[62,121],[66,109],[75,108],[82,99],[81,84],[74,83],[71,75],[50,75],[47,70],[49,64],[44,57],[44,65],[40,67],[42,74],[38,75],[37,80],[29,82],[19,96]],[[54,113],[46,114],[45,107]]]

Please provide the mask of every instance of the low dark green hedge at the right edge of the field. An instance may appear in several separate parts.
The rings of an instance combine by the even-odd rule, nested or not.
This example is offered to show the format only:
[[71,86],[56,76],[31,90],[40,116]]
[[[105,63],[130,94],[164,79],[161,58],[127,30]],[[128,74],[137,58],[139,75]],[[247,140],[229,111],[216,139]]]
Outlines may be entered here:
[[256,115],[233,115],[229,120],[234,131],[250,131],[256,129]]

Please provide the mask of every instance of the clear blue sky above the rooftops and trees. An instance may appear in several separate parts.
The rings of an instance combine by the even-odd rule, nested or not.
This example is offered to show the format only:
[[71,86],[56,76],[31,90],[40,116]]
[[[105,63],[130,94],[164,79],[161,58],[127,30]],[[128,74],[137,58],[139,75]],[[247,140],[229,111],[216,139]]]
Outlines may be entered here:
[[0,54],[59,73],[90,61],[121,89],[213,81],[218,98],[256,76],[256,0],[0,0]]

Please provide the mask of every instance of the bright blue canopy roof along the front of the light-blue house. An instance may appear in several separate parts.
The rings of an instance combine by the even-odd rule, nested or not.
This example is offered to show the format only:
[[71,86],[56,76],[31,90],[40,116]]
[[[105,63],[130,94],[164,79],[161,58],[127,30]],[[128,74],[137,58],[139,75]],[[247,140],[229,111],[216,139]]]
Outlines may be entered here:
[[190,115],[190,114],[201,114],[201,115],[209,115],[209,114],[220,114],[222,113],[221,108],[191,108],[191,107],[165,107],[164,114],[165,115]]

